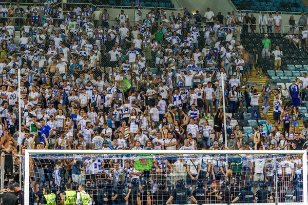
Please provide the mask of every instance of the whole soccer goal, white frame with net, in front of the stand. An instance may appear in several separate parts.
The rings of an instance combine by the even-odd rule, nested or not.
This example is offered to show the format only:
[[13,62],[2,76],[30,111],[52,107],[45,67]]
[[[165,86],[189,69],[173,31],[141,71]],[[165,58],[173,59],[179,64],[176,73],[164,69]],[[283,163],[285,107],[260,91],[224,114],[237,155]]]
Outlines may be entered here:
[[305,151],[27,150],[25,204],[307,204]]

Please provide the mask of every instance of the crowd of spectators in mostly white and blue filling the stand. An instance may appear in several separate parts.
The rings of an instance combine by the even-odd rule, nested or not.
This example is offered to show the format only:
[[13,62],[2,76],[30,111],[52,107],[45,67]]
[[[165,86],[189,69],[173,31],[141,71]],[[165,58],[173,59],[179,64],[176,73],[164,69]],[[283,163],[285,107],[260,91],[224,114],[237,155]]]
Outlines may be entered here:
[[[244,83],[243,78],[247,81],[252,75],[254,64],[261,78],[262,69],[266,69],[262,59],[274,55],[276,71],[280,70],[283,56],[279,47],[271,51],[267,34],[262,42],[263,49],[243,48],[241,35],[248,32],[248,24],[252,32],[256,29],[253,14],[249,17],[241,11],[238,14],[232,11],[226,16],[220,12],[215,16],[207,8],[206,25],[201,28],[199,11],[191,14],[187,9],[167,17],[163,8],[155,7],[143,14],[138,6],[136,19],[139,22],[135,25],[124,10],[115,17],[115,24],[111,24],[106,9],[93,9],[89,5],[80,8],[76,4],[65,14],[60,6],[52,4],[38,7],[34,3],[26,11],[18,4],[16,9],[2,7],[0,134],[3,136],[0,145],[5,153],[5,174],[10,182],[18,181],[21,163],[11,154],[20,150],[24,153],[26,149],[302,150],[307,147],[308,125],[299,131],[297,110],[300,95],[305,97],[301,88],[306,89],[306,81],[302,87],[298,81],[293,82],[290,99],[294,107],[285,105],[283,109],[281,92],[271,87],[270,76],[265,76],[261,93],[253,85]],[[25,20],[10,18],[25,15]],[[271,32],[272,23],[275,32],[280,31],[279,13],[273,18],[271,15],[267,20],[264,14],[260,15],[260,31],[264,32],[266,25]],[[264,20],[271,25],[263,24]],[[20,27],[18,42],[14,42],[14,26]],[[18,104],[17,69],[22,73],[21,105]],[[308,79],[306,74],[304,78]],[[222,90],[222,81],[225,90]],[[275,93],[274,103],[271,103],[271,93]],[[232,125],[232,119],[236,113],[247,112],[251,107],[252,119],[260,120],[259,97],[262,97],[267,121],[255,126],[252,134],[244,138],[243,127]],[[223,98],[232,115],[223,112]],[[274,125],[267,116],[271,105],[274,105]],[[20,131],[19,109],[22,110]],[[227,141],[221,138],[221,134],[224,136],[224,115]],[[282,128],[281,133],[278,127]],[[172,169],[182,167],[177,169],[184,168],[183,173],[179,170],[178,173],[185,175],[188,186],[197,185],[197,179],[201,178],[204,181],[199,185],[203,187],[205,180],[211,181],[211,189],[215,191],[216,180],[230,180],[236,174],[235,168],[239,167],[218,159],[209,155],[196,161],[155,159],[151,170],[153,176],[168,170],[169,176],[174,173]],[[31,161],[33,192],[38,192],[40,182],[57,186],[66,182],[81,184],[83,175],[87,177],[86,183],[92,183],[103,167],[110,169],[106,179],[116,180],[113,185],[119,182],[119,175],[117,179],[115,174],[120,168],[125,170],[122,177],[126,183],[134,178],[140,181],[146,178],[141,177],[146,176],[146,172],[136,170],[134,161],[129,159],[121,162],[121,158],[91,160],[34,159]],[[274,170],[269,169],[273,161],[245,158],[242,163],[245,165],[239,175],[245,172],[247,178],[240,179],[238,184],[244,185],[249,180],[267,183],[274,175]],[[283,180],[301,178],[300,157],[284,158],[277,163]],[[94,164],[97,165],[95,169]],[[63,173],[60,174],[61,169]],[[182,182],[171,183],[181,186]],[[70,186],[68,183],[66,188]],[[284,183],[282,187],[292,185]],[[228,200],[237,195],[238,192]],[[32,199],[34,203],[35,197]],[[166,202],[172,199],[175,200],[171,196]],[[207,200],[222,199],[215,195]]]

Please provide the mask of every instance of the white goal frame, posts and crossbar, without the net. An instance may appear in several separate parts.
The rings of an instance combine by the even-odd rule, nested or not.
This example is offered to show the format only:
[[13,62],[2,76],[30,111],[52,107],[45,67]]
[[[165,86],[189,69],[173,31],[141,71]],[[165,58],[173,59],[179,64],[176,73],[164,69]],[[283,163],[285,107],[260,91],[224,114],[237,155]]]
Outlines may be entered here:
[[[25,195],[25,204],[29,204],[29,168],[30,168],[30,157],[31,155],[51,155],[51,154],[57,154],[57,155],[65,155],[65,154],[76,154],[76,155],[87,155],[87,156],[101,156],[103,154],[110,154],[110,155],[127,155],[127,154],[142,154],[142,155],[302,155],[302,171],[303,171],[303,202],[297,202],[297,203],[267,203],[267,204],[308,204],[308,197],[307,197],[307,152],[306,150],[301,151],[285,151],[285,150],[279,150],[279,151],[269,151],[269,150],[262,150],[262,151],[230,151],[230,150],[223,150],[223,151],[217,151],[217,150],[193,150],[193,151],[181,151],[181,150],[26,150],[25,152],[25,177],[24,177],[24,195]],[[229,157],[228,156],[228,157]],[[243,203],[242,203],[243,204]],[[264,203],[262,203],[264,204]]]

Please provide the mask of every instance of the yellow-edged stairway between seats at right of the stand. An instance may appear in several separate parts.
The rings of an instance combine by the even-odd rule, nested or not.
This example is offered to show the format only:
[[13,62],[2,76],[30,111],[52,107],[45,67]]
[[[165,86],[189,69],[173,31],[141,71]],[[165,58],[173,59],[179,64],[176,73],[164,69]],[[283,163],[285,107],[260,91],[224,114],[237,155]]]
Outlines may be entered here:
[[[306,0],[306,2],[308,3],[308,0]],[[308,5],[308,4],[307,4]],[[265,72],[266,74],[266,72]],[[262,78],[259,77],[260,75],[257,75],[257,71],[255,69],[253,69],[252,75],[249,77],[248,81],[254,82],[254,83],[258,83],[258,84],[265,84],[265,75],[262,75]],[[244,78],[245,79],[245,78]],[[258,90],[258,93],[260,93],[262,91],[262,88],[260,87],[255,87]],[[242,89],[242,92],[244,93],[245,89]],[[261,115],[261,119],[265,119],[264,115],[262,114],[262,98],[259,98],[259,105],[260,105],[260,115]],[[268,112],[268,117],[269,119],[271,119],[271,122],[273,125],[275,125],[275,122],[273,120],[273,103],[274,103],[274,94],[271,94],[271,109]],[[282,108],[284,107],[285,102],[282,100]],[[299,120],[299,133],[301,132],[301,130],[303,129],[303,118],[301,118]],[[279,125],[279,130],[281,130],[281,127]]]

